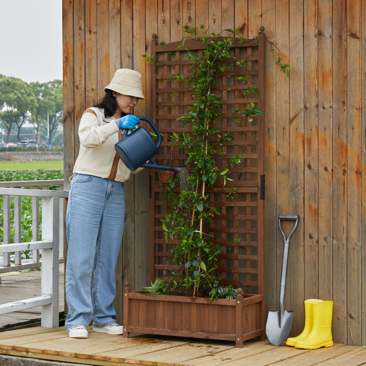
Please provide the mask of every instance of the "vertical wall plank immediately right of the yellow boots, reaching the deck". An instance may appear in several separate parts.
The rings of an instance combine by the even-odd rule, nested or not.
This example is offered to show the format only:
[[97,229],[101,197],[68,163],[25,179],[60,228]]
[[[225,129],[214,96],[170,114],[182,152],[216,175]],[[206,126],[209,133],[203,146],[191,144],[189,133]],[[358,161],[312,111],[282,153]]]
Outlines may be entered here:
[[333,2],[333,332],[347,342],[347,31],[346,3]]

